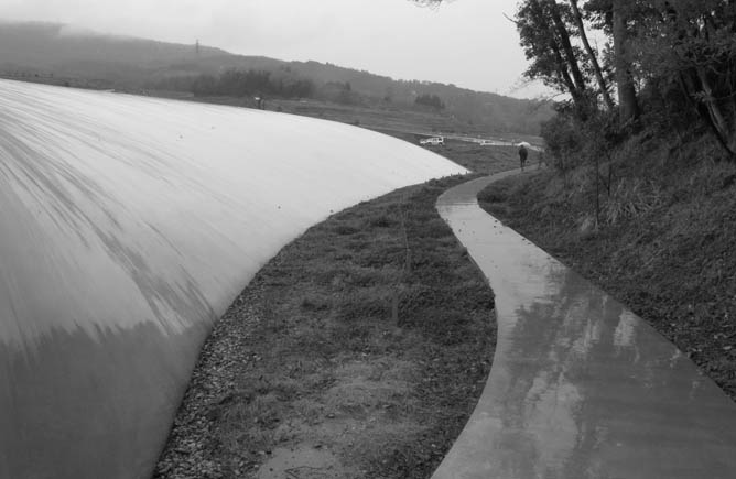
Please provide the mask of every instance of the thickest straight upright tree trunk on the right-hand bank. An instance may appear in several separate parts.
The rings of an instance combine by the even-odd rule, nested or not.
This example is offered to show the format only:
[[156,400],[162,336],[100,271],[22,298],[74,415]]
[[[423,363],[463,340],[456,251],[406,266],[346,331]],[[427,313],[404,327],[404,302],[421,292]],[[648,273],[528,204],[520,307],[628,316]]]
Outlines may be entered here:
[[621,9],[623,0],[614,0],[614,55],[616,64],[616,84],[618,87],[618,115],[621,123],[635,120],[639,116],[637,92],[634,87],[634,76],[627,58],[626,43],[628,33],[626,31],[626,17]]

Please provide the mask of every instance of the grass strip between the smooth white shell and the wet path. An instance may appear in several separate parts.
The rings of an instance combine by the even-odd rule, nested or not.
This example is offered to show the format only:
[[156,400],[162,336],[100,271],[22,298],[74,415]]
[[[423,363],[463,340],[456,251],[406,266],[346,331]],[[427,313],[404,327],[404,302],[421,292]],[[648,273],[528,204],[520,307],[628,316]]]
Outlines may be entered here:
[[434,207],[466,179],[357,205],[271,260],[207,340],[155,477],[256,477],[289,455],[325,477],[429,477],[495,344],[493,293]]

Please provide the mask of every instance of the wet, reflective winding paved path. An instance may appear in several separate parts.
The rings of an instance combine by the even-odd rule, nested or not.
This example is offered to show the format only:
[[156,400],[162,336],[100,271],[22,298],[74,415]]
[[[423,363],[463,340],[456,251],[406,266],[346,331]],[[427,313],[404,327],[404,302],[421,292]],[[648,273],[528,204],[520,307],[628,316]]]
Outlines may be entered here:
[[437,202],[496,294],[498,344],[433,478],[736,478],[736,404],[624,305],[481,210],[477,193],[506,175]]

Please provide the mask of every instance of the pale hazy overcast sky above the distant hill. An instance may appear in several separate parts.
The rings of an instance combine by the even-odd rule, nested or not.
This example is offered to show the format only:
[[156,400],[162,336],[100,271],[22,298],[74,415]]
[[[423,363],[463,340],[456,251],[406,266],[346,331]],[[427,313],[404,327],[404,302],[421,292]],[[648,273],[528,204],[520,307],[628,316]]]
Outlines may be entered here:
[[98,32],[315,59],[403,79],[517,97],[527,62],[517,0],[0,0],[0,19],[69,23]]

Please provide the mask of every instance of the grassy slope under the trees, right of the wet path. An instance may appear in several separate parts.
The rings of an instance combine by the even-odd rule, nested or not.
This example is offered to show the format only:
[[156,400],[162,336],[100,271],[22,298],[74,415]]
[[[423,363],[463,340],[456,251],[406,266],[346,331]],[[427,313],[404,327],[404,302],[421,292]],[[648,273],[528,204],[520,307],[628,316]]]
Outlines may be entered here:
[[[584,171],[481,192],[481,206],[614,294],[736,399],[736,167],[704,143],[616,165],[602,225]],[[587,224],[587,225],[586,225]]]

